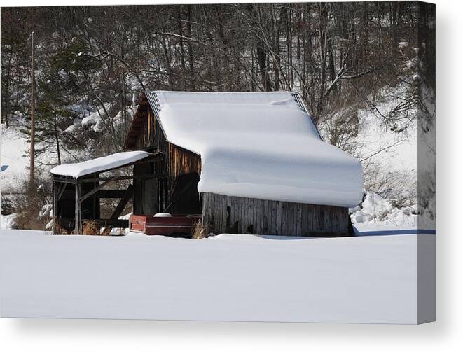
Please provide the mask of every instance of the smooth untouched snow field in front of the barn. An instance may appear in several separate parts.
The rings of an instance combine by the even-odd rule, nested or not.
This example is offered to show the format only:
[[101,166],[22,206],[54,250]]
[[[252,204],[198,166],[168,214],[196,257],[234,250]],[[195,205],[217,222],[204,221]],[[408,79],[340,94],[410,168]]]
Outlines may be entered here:
[[417,322],[417,236],[209,239],[2,230],[1,316]]

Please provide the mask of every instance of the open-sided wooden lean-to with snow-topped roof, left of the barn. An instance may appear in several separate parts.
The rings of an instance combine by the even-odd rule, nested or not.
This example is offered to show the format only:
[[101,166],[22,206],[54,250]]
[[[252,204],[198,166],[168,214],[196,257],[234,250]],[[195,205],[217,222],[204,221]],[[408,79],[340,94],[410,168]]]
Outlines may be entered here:
[[[124,167],[137,168],[163,160],[162,153],[147,153],[137,150],[116,153],[93,160],[53,167],[53,233],[82,234],[85,222],[91,221],[97,227],[128,227],[127,219],[120,219],[127,202],[133,197],[132,183],[128,187],[109,189],[116,181],[136,182],[164,177],[161,174],[130,175],[114,174]],[[109,175],[110,174],[110,175]],[[100,211],[101,199],[120,199],[108,218]]]

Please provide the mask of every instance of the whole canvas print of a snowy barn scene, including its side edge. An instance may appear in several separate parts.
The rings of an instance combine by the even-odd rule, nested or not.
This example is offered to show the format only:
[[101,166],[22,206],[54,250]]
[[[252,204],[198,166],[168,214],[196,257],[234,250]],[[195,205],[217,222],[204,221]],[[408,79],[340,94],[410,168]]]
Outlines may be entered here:
[[435,320],[435,6],[1,8],[1,316]]

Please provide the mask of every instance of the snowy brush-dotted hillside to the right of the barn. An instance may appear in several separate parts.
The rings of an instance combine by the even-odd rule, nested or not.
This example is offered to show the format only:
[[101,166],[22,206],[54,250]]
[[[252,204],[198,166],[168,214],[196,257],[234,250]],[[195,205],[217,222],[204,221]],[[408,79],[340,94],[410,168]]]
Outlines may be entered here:
[[409,90],[407,80],[383,87],[374,104],[357,109],[358,133],[350,146],[361,160],[368,191],[352,209],[357,227],[417,226],[417,111],[403,105]]

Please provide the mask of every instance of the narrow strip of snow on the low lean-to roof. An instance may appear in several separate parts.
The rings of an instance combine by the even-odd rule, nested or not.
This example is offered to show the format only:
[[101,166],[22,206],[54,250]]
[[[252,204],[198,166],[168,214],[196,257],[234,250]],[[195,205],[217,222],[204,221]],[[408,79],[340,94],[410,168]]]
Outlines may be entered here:
[[85,162],[76,162],[75,164],[61,164],[57,167],[53,167],[53,169],[50,170],[50,173],[54,175],[78,178],[88,174],[95,174],[96,172],[108,171],[118,167],[123,167],[125,165],[133,164],[134,162],[150,156],[151,153],[141,150],[116,153],[106,157],[97,157],[96,159],[87,160]]

